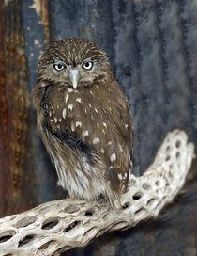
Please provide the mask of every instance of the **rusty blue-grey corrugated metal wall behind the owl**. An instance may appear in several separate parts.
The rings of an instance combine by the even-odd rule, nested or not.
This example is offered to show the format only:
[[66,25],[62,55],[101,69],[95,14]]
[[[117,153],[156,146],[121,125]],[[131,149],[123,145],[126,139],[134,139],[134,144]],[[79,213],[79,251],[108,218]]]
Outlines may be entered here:
[[[167,131],[183,128],[197,142],[196,16],[196,0],[0,0],[0,216],[67,196],[38,137],[31,95],[38,56],[53,40],[84,37],[106,51],[134,116],[136,175]],[[196,256],[196,176],[186,189],[162,220],[65,255]]]

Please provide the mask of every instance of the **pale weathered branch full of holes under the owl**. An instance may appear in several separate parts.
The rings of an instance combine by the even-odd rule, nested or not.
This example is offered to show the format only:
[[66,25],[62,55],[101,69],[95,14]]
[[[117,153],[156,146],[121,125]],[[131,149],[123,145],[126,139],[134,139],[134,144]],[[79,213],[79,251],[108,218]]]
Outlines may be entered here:
[[157,217],[183,186],[193,155],[194,145],[185,132],[169,133],[144,175],[131,175],[119,211],[106,202],[68,199],[1,218],[0,255],[59,255],[83,247],[105,232],[126,230],[143,219]]

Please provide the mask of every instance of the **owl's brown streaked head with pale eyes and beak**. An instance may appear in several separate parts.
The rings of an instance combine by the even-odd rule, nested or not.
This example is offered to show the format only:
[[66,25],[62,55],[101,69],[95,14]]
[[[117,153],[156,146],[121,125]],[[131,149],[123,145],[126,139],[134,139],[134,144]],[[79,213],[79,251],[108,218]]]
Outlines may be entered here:
[[38,61],[38,84],[64,85],[73,89],[92,87],[113,72],[103,50],[91,40],[68,38],[58,40]]

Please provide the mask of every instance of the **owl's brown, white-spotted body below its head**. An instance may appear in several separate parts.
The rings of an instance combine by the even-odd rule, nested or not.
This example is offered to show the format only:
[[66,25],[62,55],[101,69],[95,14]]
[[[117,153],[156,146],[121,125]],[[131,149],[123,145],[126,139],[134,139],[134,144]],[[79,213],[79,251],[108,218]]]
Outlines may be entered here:
[[[59,184],[73,195],[85,195],[82,190],[94,187],[98,196],[106,189],[106,182],[114,193],[127,188],[131,168],[131,120],[127,99],[117,85],[114,88],[95,85],[90,89],[74,90],[58,86],[53,90],[51,86],[45,92],[44,115],[48,127],[52,135],[66,146],[64,154],[67,158],[70,150],[75,154],[69,161],[63,160],[65,155],[62,159],[60,155],[53,155]],[[71,159],[72,163],[69,163]],[[62,163],[63,167],[57,163]],[[72,175],[68,171],[70,168]],[[96,179],[91,179],[93,173]]]

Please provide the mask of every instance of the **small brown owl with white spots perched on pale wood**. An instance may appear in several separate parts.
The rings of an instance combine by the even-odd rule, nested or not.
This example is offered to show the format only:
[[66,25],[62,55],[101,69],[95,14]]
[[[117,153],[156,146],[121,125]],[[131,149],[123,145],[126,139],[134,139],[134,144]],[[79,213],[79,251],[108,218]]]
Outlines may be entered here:
[[38,61],[38,131],[73,198],[114,207],[129,181],[132,118],[103,50],[90,40],[54,42]]

